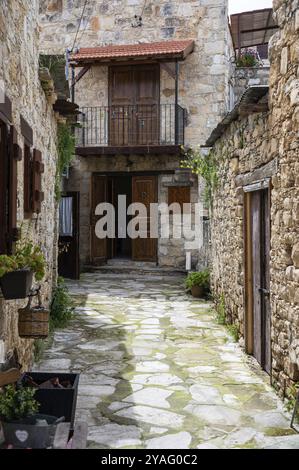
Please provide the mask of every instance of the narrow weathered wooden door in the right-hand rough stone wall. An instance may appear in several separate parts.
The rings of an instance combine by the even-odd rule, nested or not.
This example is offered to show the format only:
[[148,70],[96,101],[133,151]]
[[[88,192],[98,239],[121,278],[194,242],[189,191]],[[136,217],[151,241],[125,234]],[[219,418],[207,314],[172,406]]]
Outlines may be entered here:
[[271,374],[269,188],[245,192],[244,229],[246,349]]

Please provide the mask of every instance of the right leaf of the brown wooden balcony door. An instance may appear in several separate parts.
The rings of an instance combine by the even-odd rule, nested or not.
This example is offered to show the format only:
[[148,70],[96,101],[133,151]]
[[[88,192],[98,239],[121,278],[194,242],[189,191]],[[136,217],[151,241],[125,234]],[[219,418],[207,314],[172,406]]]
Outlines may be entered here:
[[159,66],[135,67],[136,144],[159,142]]

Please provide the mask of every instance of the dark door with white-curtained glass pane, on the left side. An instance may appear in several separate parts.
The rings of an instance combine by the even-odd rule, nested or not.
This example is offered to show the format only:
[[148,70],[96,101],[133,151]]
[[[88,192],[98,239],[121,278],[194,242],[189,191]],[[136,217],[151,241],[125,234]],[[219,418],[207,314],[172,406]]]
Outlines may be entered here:
[[59,209],[58,272],[69,279],[80,279],[80,193],[63,194]]

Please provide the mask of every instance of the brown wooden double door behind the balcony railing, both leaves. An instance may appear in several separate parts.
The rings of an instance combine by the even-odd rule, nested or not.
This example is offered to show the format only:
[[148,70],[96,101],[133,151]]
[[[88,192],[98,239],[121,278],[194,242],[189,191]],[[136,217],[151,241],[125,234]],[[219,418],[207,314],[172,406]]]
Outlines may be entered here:
[[157,145],[159,102],[158,64],[110,67],[109,145]]

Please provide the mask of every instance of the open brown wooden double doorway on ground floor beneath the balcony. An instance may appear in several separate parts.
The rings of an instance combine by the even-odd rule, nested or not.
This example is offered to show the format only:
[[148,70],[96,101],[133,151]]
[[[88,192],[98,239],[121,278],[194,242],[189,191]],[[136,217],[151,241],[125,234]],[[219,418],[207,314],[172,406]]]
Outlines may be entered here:
[[[129,216],[123,219],[126,227],[118,224],[118,196],[126,196],[126,210],[132,202],[144,203],[147,207],[147,238],[132,240],[126,227]],[[101,202],[113,204],[115,208],[115,238],[99,239],[95,228],[101,216],[95,215],[95,209]],[[157,177],[148,175],[92,175],[91,184],[91,262],[101,265],[112,258],[132,259],[134,261],[157,260],[157,239],[150,238],[150,204],[157,202]],[[122,209],[123,210],[123,209]]]

